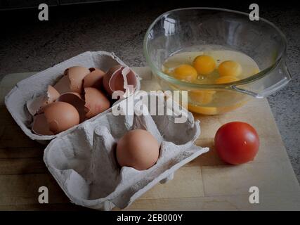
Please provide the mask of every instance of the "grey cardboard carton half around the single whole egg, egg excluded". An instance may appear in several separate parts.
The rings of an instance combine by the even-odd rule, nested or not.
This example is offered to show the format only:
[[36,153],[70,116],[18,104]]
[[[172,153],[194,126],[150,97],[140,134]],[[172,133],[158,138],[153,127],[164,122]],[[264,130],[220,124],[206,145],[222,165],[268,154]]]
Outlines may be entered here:
[[[158,101],[164,110],[170,107],[166,96],[156,97],[164,98]],[[130,101],[139,101],[136,94],[117,107],[124,110]],[[149,112],[150,103],[143,106],[143,111]],[[188,111],[185,113],[188,119],[175,123],[176,113],[115,116],[110,110],[53,139],[44,151],[44,162],[72,203],[97,210],[127,207],[158,182],[172,179],[176,169],[209,150],[194,144],[200,135],[200,122],[194,121]],[[139,171],[117,164],[117,141],[131,129],[150,131],[160,144],[159,159],[150,169]]]

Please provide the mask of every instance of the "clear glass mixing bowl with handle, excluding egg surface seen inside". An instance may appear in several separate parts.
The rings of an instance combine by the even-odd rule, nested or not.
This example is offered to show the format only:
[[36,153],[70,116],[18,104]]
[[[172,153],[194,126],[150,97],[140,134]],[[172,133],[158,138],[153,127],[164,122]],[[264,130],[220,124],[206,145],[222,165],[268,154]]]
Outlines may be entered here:
[[[193,84],[162,72],[175,53],[214,50],[240,51],[251,57],[260,72],[226,84]],[[268,20],[249,20],[249,14],[221,8],[180,8],[160,15],[150,25],[143,43],[145,58],[162,90],[188,91],[188,109],[216,115],[264,98],[291,79],[285,63],[284,34]]]

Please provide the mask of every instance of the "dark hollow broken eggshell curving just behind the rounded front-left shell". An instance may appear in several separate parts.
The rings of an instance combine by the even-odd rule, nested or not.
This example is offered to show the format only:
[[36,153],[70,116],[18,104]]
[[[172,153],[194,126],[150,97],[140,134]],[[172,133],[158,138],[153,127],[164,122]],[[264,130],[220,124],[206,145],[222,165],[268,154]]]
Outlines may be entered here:
[[86,113],[89,112],[89,109],[84,106],[86,102],[81,98],[80,94],[76,92],[68,92],[62,94],[58,98],[58,101],[73,105],[79,113],[80,122],[84,122],[84,120],[86,120]]

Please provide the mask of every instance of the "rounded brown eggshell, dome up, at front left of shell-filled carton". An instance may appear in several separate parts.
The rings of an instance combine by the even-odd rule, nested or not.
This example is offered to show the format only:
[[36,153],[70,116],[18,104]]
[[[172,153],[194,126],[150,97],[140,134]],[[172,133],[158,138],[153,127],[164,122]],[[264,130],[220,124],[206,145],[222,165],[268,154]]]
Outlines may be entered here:
[[69,103],[58,101],[46,105],[44,107],[44,115],[49,129],[53,134],[58,134],[79,124],[79,113]]

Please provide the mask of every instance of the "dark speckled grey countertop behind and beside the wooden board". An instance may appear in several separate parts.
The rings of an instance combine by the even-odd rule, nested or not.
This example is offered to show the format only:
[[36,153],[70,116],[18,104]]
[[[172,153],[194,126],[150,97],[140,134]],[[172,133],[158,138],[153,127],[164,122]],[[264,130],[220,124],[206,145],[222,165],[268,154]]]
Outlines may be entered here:
[[[227,3],[231,6],[214,1],[209,6],[249,11],[247,3]],[[137,6],[133,1],[114,1],[60,6],[49,9],[49,21],[39,21],[37,9],[1,12],[0,79],[8,73],[44,70],[90,50],[113,51],[128,65],[146,65],[143,37],[150,23],[164,11],[189,6],[207,5],[151,1]],[[287,37],[287,67],[293,80],[268,101],[300,181],[299,8],[291,4],[259,6],[260,16],[277,25]]]

